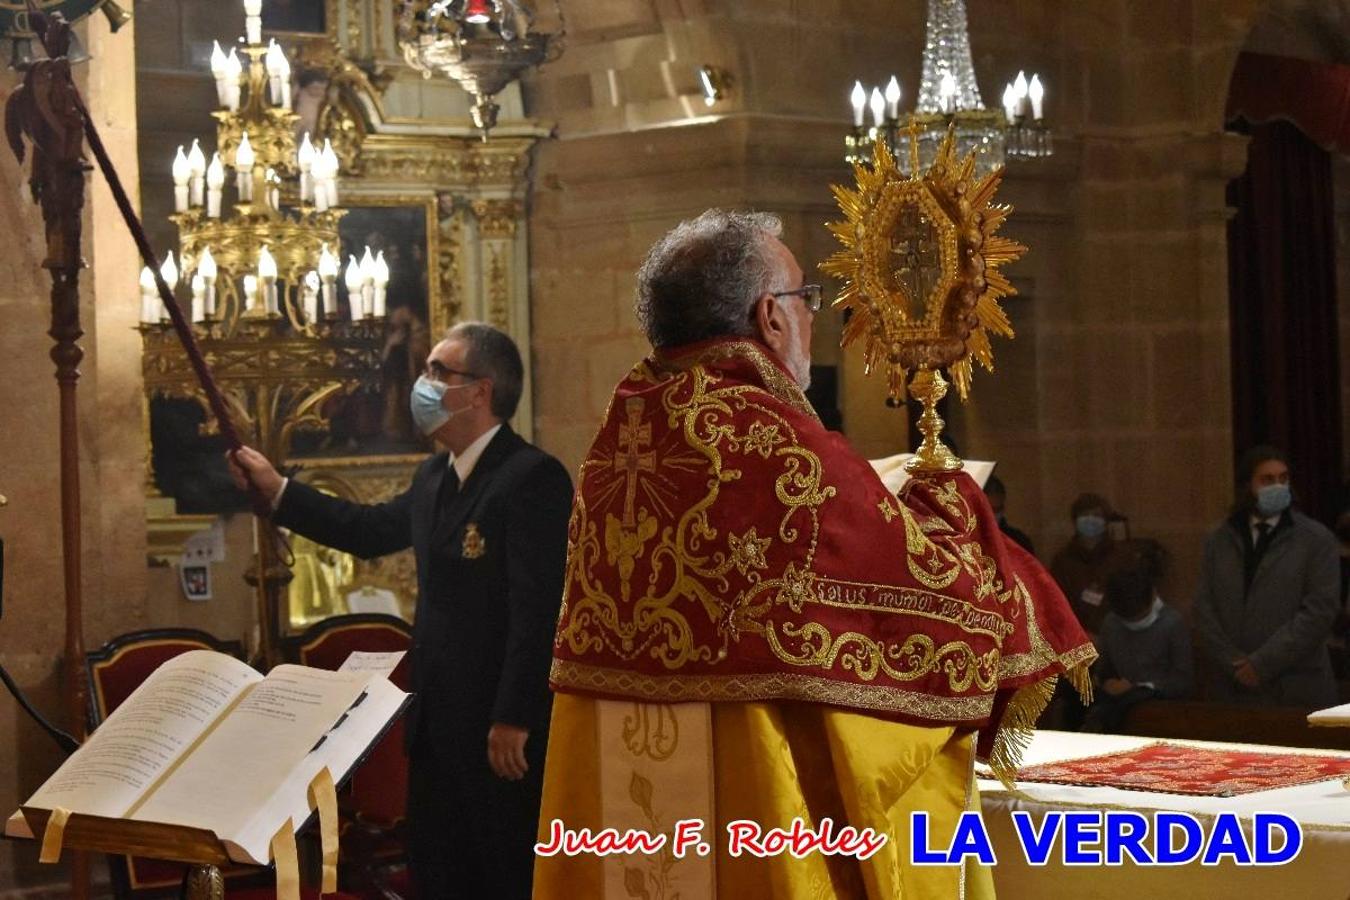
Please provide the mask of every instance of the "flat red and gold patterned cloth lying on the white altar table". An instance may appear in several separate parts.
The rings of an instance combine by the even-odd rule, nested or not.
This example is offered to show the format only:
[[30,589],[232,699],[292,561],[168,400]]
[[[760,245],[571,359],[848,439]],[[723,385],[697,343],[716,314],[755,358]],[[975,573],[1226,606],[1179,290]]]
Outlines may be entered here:
[[1350,757],[1343,756],[1212,750],[1158,741],[1134,750],[1031,765],[1021,769],[1017,780],[1231,797],[1346,776]]

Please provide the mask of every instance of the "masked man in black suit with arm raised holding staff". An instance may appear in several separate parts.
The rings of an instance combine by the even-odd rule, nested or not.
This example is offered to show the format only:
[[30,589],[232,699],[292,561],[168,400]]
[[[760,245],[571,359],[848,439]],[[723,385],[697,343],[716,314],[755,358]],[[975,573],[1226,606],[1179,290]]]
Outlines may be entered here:
[[418,428],[450,453],[387,503],[284,479],[250,448],[231,460],[278,525],[363,559],[416,552],[408,849],[428,900],[531,892],[572,486],[506,424],[521,382],[504,332],[452,328],[412,393]]

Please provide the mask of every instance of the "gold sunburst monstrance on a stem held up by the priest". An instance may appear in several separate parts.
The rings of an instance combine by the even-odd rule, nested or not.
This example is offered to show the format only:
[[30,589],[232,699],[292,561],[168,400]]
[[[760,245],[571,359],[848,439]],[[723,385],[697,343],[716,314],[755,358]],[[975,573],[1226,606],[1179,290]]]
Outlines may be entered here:
[[990,332],[1013,337],[999,300],[1015,294],[999,271],[1026,247],[998,235],[1013,208],[994,204],[1003,167],[975,177],[975,154],[959,159],[949,131],[926,173],[919,170],[918,142],[911,140],[910,171],[895,165],[878,140],[871,165],[853,163],[857,190],[833,185],[844,221],[830,231],[844,248],[821,270],[844,281],[836,309],[850,313],[841,344],[867,339],[865,368],[886,366],[890,395],[909,391],[923,403],[923,443],[906,468],[948,472],[961,460],[941,441],[937,403],[946,395],[944,368],[964,401],[971,390],[972,360],[994,371]]

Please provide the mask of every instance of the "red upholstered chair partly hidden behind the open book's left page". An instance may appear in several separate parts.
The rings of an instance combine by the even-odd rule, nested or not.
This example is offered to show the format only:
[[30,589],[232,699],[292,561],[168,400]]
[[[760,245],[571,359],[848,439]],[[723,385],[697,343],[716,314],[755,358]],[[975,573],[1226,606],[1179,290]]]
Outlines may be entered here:
[[[173,657],[189,650],[216,650],[243,658],[239,641],[219,641],[194,629],[154,629],[115,637],[85,656],[89,680],[89,730],[99,727],[113,710],[140,687],[151,672]],[[177,897],[181,893],[188,866],[178,862],[146,860],[140,857],[108,857],[112,887],[117,897]],[[225,876],[228,900],[274,900],[277,891],[269,887],[270,872],[256,868],[234,868]],[[305,888],[304,900],[319,900],[319,891]],[[327,897],[347,897],[331,893]]]

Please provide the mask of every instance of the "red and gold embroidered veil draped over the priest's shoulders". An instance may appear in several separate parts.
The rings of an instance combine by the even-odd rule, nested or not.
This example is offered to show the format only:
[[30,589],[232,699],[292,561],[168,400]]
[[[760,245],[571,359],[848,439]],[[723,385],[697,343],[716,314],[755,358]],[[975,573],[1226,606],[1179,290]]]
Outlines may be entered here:
[[984,729],[1008,772],[1053,677],[1085,690],[1096,656],[967,475],[891,495],[751,340],[659,354],[618,385],[568,537],[558,691]]

